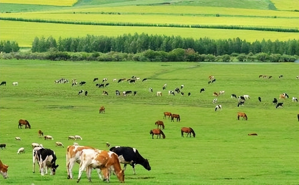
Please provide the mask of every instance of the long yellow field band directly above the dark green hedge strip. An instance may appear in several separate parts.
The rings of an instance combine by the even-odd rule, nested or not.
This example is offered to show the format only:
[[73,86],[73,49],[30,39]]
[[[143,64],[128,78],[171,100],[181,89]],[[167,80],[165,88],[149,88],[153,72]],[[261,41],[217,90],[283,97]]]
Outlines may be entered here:
[[2,13],[1,17],[19,17],[32,19],[74,20],[92,22],[130,22],[158,24],[213,24],[244,25],[299,28],[299,19],[295,18],[251,18],[251,17],[197,17],[197,16],[162,16],[162,15],[107,15],[107,14],[36,14],[36,13]]

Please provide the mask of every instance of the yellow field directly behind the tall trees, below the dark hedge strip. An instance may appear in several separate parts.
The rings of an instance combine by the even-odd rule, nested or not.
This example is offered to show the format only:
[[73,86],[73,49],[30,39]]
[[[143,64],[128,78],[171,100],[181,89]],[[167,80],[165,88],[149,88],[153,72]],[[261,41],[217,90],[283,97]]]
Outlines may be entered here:
[[298,33],[253,31],[253,30],[222,30],[222,29],[197,29],[197,28],[170,28],[170,27],[123,27],[123,26],[92,26],[74,24],[52,24],[19,21],[0,21],[1,40],[17,41],[20,47],[31,47],[33,39],[38,36],[53,36],[58,40],[61,36],[81,37],[90,35],[118,36],[125,33],[147,33],[181,37],[209,37],[212,39],[228,39],[239,37],[246,41],[266,40],[285,41],[298,39]]

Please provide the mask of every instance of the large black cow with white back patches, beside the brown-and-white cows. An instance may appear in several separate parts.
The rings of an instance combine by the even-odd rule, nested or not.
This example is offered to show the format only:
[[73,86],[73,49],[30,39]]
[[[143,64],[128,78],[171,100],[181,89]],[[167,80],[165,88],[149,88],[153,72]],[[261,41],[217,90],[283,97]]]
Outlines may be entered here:
[[148,171],[151,170],[149,166],[149,161],[144,159],[138,152],[136,148],[132,147],[112,147],[110,151],[116,153],[118,155],[119,162],[124,164],[123,171],[125,171],[127,164],[133,167],[134,175],[135,172],[135,165],[141,164],[145,169]]

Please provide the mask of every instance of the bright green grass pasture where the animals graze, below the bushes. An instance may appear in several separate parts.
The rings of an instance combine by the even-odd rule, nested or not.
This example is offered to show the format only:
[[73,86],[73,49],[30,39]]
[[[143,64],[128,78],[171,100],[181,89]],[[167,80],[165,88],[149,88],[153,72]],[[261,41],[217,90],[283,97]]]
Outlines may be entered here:
[[[137,175],[133,175],[132,167],[127,166],[126,184],[298,184],[299,112],[298,103],[291,100],[299,97],[298,71],[295,63],[1,60],[0,81],[7,85],[0,86],[0,137],[1,144],[6,144],[0,155],[1,161],[9,165],[9,178],[0,177],[1,184],[77,184],[67,179],[66,148],[55,147],[57,141],[65,147],[71,145],[74,141],[68,141],[68,135],[80,135],[83,140],[77,143],[98,149],[109,149],[106,142],[110,147],[137,148],[149,159],[151,171],[137,165]],[[261,74],[273,79],[258,78]],[[112,82],[113,78],[133,75],[148,80],[135,84]],[[210,75],[216,82],[208,85]],[[279,75],[284,77],[279,79]],[[60,78],[76,78],[78,82],[86,81],[86,85],[54,84]],[[99,81],[93,82],[94,78]],[[96,88],[103,78],[108,78],[106,83],[110,85]],[[19,85],[13,86],[12,82]],[[162,90],[165,83],[167,89]],[[168,90],[182,84],[184,96],[168,95]],[[149,87],[153,92],[148,92]],[[203,87],[206,92],[199,93]],[[87,90],[88,95],[77,95],[79,90]],[[109,95],[102,95],[103,90]],[[137,94],[116,96],[115,90]],[[221,90],[225,95],[213,104],[212,93]],[[163,95],[156,96],[156,91]],[[279,100],[283,92],[290,98]],[[231,94],[247,94],[251,99],[237,107]],[[275,109],[274,97],[284,103],[283,108]],[[223,110],[215,112],[217,104]],[[99,114],[100,106],[105,106],[105,114]],[[181,121],[163,120],[166,111],[179,114]],[[237,112],[245,112],[248,121],[238,121]],[[31,129],[18,129],[19,119],[27,119]],[[165,139],[149,135],[157,128],[157,120],[164,121]],[[182,138],[181,127],[192,127],[196,137]],[[54,140],[38,138],[39,129]],[[22,140],[16,141],[15,137]],[[56,152],[59,167],[55,176],[32,173],[33,142]],[[20,147],[25,153],[17,155]],[[75,164],[75,178],[78,168]],[[96,172],[92,172],[92,181],[104,184]],[[112,175],[110,183],[118,183],[117,178]],[[79,184],[90,184],[85,172]]]

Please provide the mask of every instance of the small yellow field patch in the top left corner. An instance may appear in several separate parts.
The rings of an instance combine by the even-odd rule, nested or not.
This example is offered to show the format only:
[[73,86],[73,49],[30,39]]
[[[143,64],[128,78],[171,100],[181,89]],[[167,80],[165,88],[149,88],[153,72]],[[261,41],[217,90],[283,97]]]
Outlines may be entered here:
[[78,0],[1,0],[1,3],[73,6]]

